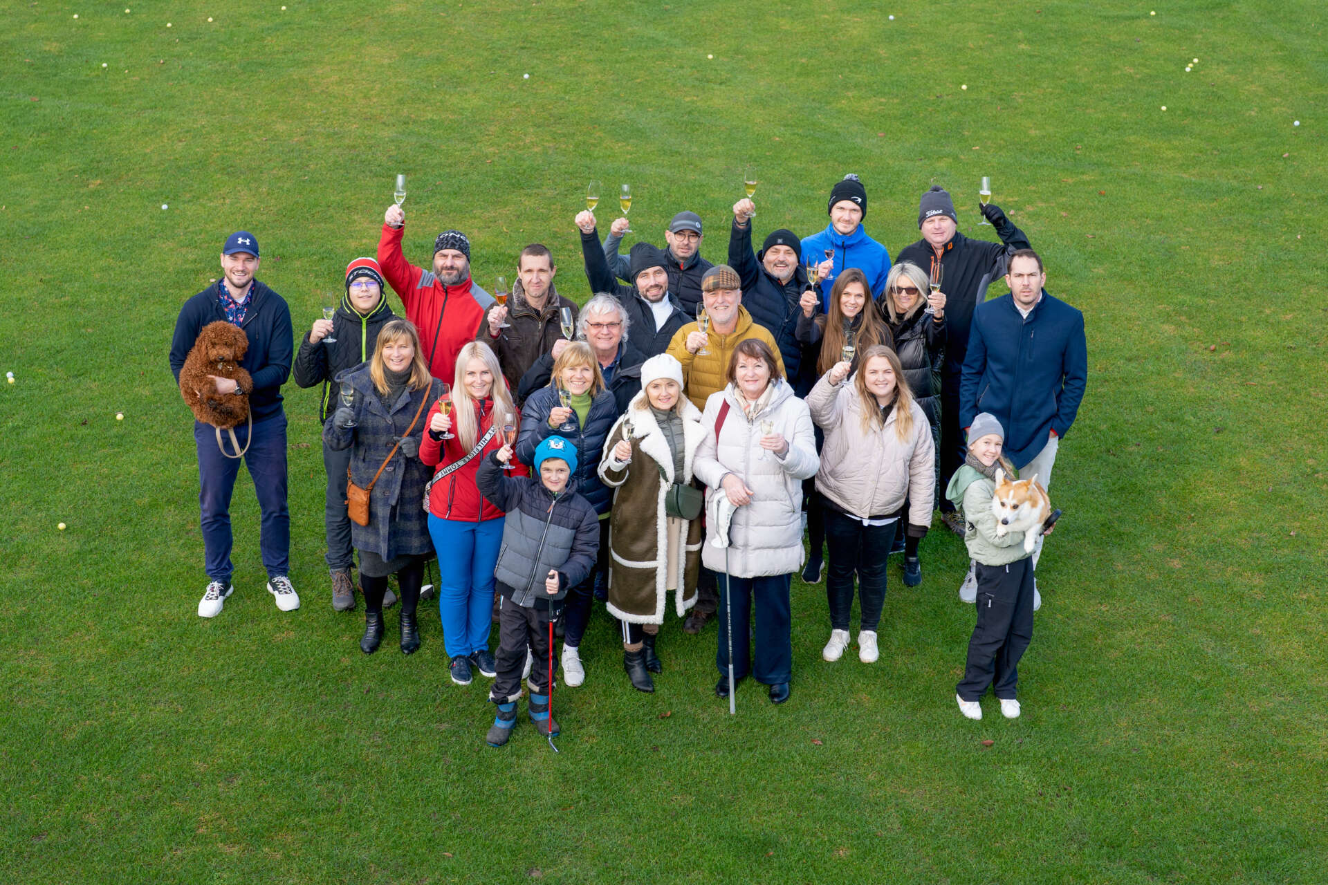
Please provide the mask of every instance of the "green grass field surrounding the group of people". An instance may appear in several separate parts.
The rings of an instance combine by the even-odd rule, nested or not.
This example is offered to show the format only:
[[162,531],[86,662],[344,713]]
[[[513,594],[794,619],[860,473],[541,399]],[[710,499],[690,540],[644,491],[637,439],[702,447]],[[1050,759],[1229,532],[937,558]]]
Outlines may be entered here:
[[[124,1],[4,4],[0,880],[1323,881],[1321,4]],[[304,605],[263,590],[244,475],[235,596],[195,616],[166,353],[230,231],[307,329],[402,171],[413,261],[458,227],[489,288],[540,240],[584,299],[588,179],[633,186],[639,238],[699,211],[722,260],[745,163],[758,236],[822,228],[853,171],[891,253],[932,180],[991,236],[991,175],[1086,314],[1020,720],[955,709],[967,557],[934,531],[874,666],[821,661],[795,585],[793,698],[730,718],[713,626],[665,626],[647,697],[599,610],[562,754],[529,722],[489,750],[436,609],[412,658],[331,610],[293,383]]]

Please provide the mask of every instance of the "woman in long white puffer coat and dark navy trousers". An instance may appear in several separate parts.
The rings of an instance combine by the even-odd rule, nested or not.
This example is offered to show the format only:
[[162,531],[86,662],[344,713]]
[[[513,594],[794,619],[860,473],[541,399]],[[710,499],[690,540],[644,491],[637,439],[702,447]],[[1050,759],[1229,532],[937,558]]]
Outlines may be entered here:
[[821,463],[811,414],[781,377],[770,348],[748,338],[733,350],[728,385],[706,401],[701,425],[706,434],[696,451],[695,472],[708,486],[706,511],[716,512],[710,500],[718,495],[736,508],[729,545],[713,543],[724,520],[708,519],[701,548],[701,561],[717,572],[720,585],[716,665],[721,675],[714,693],[729,695],[732,620],[734,682],[752,673],[770,686],[770,701],[784,703],[793,675],[789,586],[802,567],[802,480]]

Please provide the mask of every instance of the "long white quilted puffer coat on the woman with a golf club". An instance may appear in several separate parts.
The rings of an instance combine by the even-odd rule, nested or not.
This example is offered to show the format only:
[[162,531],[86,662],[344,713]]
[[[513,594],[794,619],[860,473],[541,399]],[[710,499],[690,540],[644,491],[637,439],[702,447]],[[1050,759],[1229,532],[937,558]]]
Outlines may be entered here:
[[[724,548],[710,543],[713,527],[706,528],[701,545],[701,563],[733,577],[789,575],[802,568],[802,480],[815,475],[821,459],[807,403],[793,395],[788,382],[772,383],[770,403],[750,421],[732,383],[706,399],[701,417],[705,438],[696,450],[695,470],[709,487],[706,500],[724,494],[720,480],[725,474],[736,474],[753,491],[752,503],[733,513],[728,565]],[[729,411],[716,441],[714,423],[725,402]],[[761,448],[761,421],[773,422],[773,431],[789,442],[784,458]]]

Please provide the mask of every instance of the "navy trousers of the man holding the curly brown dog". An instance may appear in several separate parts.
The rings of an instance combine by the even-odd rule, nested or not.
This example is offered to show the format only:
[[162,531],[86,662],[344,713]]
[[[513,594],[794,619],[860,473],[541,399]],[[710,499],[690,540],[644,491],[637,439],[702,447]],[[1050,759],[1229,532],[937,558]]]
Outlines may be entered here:
[[[244,466],[254,480],[262,513],[259,547],[268,577],[291,572],[291,511],[286,507],[286,415],[235,429],[240,448],[248,442]],[[226,448],[231,441],[224,433]],[[211,425],[194,422],[198,450],[198,510],[203,531],[203,557],[207,577],[230,582],[231,573],[231,492],[240,472],[240,459],[227,458],[216,447]]]

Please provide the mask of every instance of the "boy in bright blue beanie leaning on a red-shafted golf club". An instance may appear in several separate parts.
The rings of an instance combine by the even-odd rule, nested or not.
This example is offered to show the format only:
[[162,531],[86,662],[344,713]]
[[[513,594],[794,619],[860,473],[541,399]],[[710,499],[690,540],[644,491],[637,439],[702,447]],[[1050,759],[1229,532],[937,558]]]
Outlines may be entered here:
[[530,679],[530,720],[540,735],[556,735],[550,711],[554,674],[550,667],[548,625],[556,618],[567,588],[590,575],[599,553],[599,517],[576,494],[576,446],[547,437],[535,448],[538,476],[503,476],[511,446],[493,452],[475,472],[479,492],[507,516],[502,552],[494,572],[498,590],[498,675],[489,699],[498,715],[489,728],[490,747],[502,747],[517,724],[521,670],[526,649],[534,657]]

